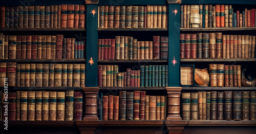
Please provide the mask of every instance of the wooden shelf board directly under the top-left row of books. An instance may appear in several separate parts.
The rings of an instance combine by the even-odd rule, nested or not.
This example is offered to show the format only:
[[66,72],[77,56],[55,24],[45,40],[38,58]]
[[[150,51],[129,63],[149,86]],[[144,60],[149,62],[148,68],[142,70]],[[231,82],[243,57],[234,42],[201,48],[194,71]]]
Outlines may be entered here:
[[52,29],[52,28],[18,28],[18,29],[13,29],[13,28],[6,28],[6,29],[0,29],[0,31],[86,31],[86,29],[82,28],[73,28],[73,29],[65,29],[65,28],[59,28],[59,29]]

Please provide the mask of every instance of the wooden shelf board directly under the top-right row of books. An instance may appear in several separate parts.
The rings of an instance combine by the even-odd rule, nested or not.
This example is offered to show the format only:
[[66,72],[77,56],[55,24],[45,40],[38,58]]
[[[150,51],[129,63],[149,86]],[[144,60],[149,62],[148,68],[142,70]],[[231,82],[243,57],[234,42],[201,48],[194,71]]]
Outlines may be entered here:
[[256,28],[180,28],[180,31],[244,31]]

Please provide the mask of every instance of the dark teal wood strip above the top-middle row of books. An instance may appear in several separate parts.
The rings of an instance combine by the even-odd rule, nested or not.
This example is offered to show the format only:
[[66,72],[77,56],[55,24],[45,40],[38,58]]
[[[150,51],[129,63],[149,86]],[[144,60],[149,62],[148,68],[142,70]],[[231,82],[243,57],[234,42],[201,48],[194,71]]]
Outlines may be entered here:
[[99,0],[98,5],[166,5],[166,0]]

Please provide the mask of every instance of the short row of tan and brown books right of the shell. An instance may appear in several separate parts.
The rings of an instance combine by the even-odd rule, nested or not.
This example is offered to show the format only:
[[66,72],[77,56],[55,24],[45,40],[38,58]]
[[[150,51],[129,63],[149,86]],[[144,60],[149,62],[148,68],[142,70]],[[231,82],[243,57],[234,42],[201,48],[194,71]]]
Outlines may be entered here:
[[241,65],[209,64],[211,87],[242,87]]

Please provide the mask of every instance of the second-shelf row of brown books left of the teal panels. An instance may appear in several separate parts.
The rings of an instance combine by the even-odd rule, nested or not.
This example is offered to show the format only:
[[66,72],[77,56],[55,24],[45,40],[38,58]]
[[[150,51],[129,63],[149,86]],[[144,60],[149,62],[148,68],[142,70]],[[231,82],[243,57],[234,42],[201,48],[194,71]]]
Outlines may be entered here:
[[84,45],[63,35],[0,34],[0,59],[84,59]]

